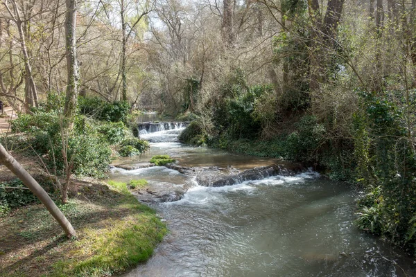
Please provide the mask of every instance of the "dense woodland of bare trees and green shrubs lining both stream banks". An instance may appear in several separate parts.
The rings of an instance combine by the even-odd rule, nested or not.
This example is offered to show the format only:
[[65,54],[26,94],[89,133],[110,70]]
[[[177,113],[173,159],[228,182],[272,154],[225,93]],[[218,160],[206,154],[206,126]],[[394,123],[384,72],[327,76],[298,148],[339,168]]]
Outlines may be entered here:
[[415,0],[0,3],[0,99],[55,173],[101,176],[130,108],[157,110],[356,184],[357,226],[415,251]]

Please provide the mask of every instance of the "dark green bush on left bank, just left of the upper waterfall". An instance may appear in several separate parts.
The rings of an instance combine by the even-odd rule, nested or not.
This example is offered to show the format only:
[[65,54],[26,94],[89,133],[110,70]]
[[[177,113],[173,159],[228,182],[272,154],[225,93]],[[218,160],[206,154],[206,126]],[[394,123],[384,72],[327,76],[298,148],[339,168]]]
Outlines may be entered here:
[[127,101],[110,103],[97,97],[80,97],[78,98],[78,110],[80,114],[98,120],[123,121],[125,123],[130,112],[130,104]]

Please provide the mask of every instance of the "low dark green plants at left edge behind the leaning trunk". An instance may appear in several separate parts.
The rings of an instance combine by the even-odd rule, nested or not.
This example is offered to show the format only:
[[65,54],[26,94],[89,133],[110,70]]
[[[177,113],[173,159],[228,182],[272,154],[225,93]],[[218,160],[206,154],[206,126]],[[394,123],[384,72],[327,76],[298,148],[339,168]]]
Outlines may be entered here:
[[9,211],[10,208],[25,206],[33,202],[39,202],[39,200],[19,179],[0,183],[0,215]]

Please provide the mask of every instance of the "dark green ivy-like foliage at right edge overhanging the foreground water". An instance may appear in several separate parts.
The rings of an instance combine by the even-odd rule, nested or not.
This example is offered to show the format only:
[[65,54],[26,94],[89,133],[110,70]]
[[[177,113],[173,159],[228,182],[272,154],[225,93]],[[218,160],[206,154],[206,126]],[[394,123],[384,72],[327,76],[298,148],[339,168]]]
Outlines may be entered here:
[[414,242],[410,234],[415,228],[416,157],[409,114],[402,108],[414,107],[414,93],[410,102],[397,91],[359,93],[362,109],[354,115],[356,180],[376,188],[359,203],[358,226],[400,245]]

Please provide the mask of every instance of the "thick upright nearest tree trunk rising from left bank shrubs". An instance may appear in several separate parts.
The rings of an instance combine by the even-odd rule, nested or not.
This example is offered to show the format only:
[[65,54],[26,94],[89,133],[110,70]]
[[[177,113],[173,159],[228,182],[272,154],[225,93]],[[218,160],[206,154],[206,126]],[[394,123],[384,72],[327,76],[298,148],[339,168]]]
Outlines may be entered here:
[[[67,0],[67,17],[65,19],[66,55],[67,55],[67,96],[64,115],[73,118],[78,98],[78,61],[76,59],[76,6],[77,0]],[[71,120],[71,119],[70,119]]]

